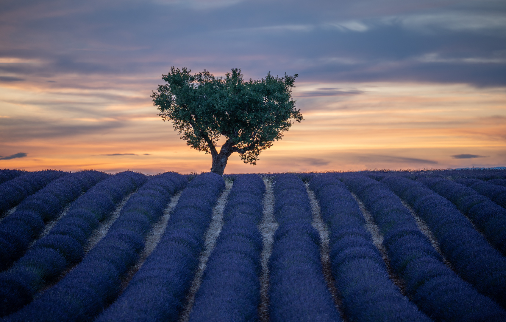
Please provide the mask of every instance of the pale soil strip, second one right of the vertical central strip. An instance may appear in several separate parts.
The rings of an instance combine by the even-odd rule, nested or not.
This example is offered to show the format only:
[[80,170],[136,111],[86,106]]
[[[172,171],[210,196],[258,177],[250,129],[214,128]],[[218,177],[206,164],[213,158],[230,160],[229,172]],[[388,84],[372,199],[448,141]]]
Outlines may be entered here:
[[358,203],[358,206],[360,210],[362,211],[362,214],[365,219],[365,229],[371,233],[372,235],[372,242],[378,249],[379,253],[383,257],[383,261],[385,262],[385,265],[387,265],[388,275],[390,279],[394,282],[394,284],[399,288],[399,291],[402,295],[406,296],[406,285],[404,284],[404,281],[397,276],[397,274],[394,272],[394,269],[392,268],[392,265],[390,265],[390,259],[387,255],[387,249],[383,245],[383,235],[379,232],[379,227],[374,223],[374,220],[372,219],[372,215],[370,212],[366,209],[364,203],[358,199],[357,195],[351,192],[353,195],[353,198]]

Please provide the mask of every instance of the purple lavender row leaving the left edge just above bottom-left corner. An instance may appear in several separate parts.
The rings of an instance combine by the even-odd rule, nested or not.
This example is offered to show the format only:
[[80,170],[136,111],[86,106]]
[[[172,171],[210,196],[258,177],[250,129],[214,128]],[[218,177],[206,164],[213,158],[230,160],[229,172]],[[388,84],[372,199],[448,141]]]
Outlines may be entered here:
[[84,256],[93,229],[116,203],[146,182],[141,173],[110,176],[70,204],[67,214],[8,271],[0,273],[0,314],[19,310],[33,295]]

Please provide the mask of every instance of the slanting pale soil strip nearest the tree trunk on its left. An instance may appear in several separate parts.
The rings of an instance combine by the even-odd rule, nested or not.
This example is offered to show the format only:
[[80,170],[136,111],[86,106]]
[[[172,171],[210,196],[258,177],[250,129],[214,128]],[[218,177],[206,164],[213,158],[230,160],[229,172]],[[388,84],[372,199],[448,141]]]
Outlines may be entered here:
[[128,286],[135,273],[141,268],[144,261],[148,258],[149,254],[154,251],[156,245],[160,242],[160,238],[167,228],[167,222],[171,218],[172,209],[178,204],[179,197],[181,197],[182,191],[178,192],[171,197],[171,202],[163,210],[163,216],[153,225],[153,229],[146,236],[144,251],[139,256],[137,263],[126,272],[125,277],[121,281],[119,294],[123,293],[124,289]]

